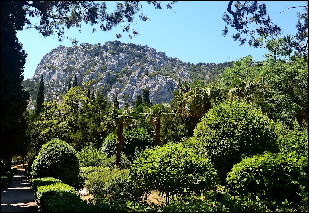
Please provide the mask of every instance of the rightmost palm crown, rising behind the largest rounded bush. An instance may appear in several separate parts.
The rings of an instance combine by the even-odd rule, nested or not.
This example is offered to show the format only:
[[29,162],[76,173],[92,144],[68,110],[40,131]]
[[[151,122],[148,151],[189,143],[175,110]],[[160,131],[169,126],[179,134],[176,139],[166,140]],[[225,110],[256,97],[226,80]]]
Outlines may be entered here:
[[253,74],[251,74],[247,80],[234,76],[230,84],[229,93],[246,100],[256,100],[257,102],[262,102],[263,99],[261,96],[265,95],[270,89],[268,84],[264,84],[262,80],[263,77],[261,75],[254,77]]

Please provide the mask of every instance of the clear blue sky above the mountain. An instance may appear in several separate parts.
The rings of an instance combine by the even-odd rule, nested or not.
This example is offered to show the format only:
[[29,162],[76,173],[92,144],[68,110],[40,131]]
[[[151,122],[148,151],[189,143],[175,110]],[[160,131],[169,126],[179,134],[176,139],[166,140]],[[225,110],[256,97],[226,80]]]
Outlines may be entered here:
[[[305,1],[258,1],[264,2],[273,23],[282,29],[282,34],[296,33],[297,15],[303,13],[303,8],[294,8],[287,11],[287,7],[304,6]],[[115,8],[114,1],[108,1],[107,10]],[[92,32],[89,24],[82,24],[81,33],[77,29],[65,30],[65,35],[77,38],[81,43],[104,44],[106,41],[119,40],[125,43],[148,45],[157,51],[165,52],[168,57],[180,58],[183,62],[190,63],[223,63],[233,58],[252,55],[256,60],[263,60],[265,49],[250,48],[248,43],[239,46],[238,41],[231,37],[235,29],[229,29],[227,36],[222,36],[225,22],[222,15],[227,9],[228,1],[184,1],[177,2],[168,10],[166,2],[162,2],[162,10],[157,10],[152,5],[142,2],[144,15],[150,20],[143,22],[138,15],[134,19],[133,28],[139,32],[132,40],[118,28],[122,34],[116,38],[116,30],[102,32],[97,26],[97,31]],[[284,13],[280,13],[285,11]],[[34,19],[30,19],[32,23]],[[132,33],[131,33],[132,34]],[[58,41],[57,36],[43,38],[35,29],[17,32],[18,40],[23,44],[23,49],[28,53],[24,68],[24,79],[34,75],[37,64],[41,58],[59,45],[72,46],[70,40]]]

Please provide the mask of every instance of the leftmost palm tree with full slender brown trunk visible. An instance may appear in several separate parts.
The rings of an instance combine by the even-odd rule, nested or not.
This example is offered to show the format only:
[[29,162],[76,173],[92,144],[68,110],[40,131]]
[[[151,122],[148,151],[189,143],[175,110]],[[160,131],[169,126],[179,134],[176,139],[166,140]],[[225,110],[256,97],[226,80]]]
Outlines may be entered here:
[[133,118],[135,112],[132,107],[123,107],[117,109],[113,107],[109,109],[108,115],[104,115],[104,130],[111,130],[116,127],[117,132],[117,147],[116,147],[116,165],[120,164],[120,154],[123,140],[123,128],[132,128],[138,125],[138,121]]

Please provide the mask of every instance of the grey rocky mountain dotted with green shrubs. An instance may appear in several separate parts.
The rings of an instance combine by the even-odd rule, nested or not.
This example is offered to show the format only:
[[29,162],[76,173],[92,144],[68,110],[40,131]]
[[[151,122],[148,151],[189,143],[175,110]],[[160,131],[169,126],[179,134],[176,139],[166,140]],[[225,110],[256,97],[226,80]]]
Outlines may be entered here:
[[209,83],[231,63],[194,65],[181,62],[179,58],[167,57],[165,53],[147,45],[120,41],[110,41],[104,45],[61,45],[43,56],[34,76],[23,81],[22,85],[30,92],[30,109],[35,105],[41,74],[44,78],[45,101],[60,100],[69,81],[73,85],[76,74],[78,86],[82,89],[83,83],[92,80],[91,91],[103,93],[111,102],[116,92],[119,106],[125,102],[134,105],[137,94],[142,95],[143,87],[149,88],[150,102],[156,104],[171,102],[178,79],[181,82],[201,79]]

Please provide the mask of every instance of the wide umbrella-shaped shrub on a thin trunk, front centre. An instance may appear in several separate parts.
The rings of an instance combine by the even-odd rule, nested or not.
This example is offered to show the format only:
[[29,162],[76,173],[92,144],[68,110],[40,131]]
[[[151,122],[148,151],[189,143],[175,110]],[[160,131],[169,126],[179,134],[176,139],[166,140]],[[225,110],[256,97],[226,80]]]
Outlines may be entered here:
[[154,150],[146,149],[141,155],[131,166],[130,175],[147,190],[199,194],[216,188],[218,175],[210,160],[182,144],[167,143]]

